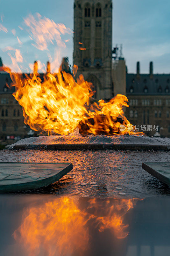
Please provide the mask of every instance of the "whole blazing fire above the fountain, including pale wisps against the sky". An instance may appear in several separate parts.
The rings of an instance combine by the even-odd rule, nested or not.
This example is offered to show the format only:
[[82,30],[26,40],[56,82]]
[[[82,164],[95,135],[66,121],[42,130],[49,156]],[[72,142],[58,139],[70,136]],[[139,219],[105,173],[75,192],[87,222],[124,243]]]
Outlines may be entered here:
[[[39,13],[35,16],[30,14],[24,18],[24,23],[31,45],[39,51],[47,51],[50,61],[52,57],[48,44],[65,48],[65,42],[69,42],[69,39],[62,41],[61,35],[72,33],[64,24],[56,24],[53,20],[42,18]],[[20,49],[24,44],[18,36],[17,40],[19,49],[8,46],[4,51],[14,51],[13,56],[10,52],[8,55],[12,61],[11,68],[18,68],[19,73],[14,73],[9,68],[5,70],[10,73],[16,87],[13,96],[23,108],[25,124],[32,130],[44,134],[68,135],[78,127],[81,134],[143,134],[136,132],[135,127],[124,116],[123,109],[128,107],[126,96],[118,94],[109,102],[99,100],[98,103],[92,103],[93,85],[85,81],[82,75],[74,80],[78,69],[75,65],[72,71],[69,70],[68,63],[62,63],[58,68],[59,57],[51,63],[53,72],[48,62],[44,75],[39,75],[38,66],[45,68],[45,64],[38,61],[34,64],[32,74],[22,75],[19,65],[23,63],[24,58]],[[80,50],[86,49],[83,43],[77,44],[82,46]],[[29,64],[29,67],[32,67],[32,64]],[[120,129],[121,124],[123,129]]]

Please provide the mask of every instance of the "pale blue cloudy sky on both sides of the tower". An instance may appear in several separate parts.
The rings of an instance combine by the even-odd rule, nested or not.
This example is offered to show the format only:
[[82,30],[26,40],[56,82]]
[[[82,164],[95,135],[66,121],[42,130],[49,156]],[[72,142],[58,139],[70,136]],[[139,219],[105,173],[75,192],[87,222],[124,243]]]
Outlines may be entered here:
[[[65,42],[65,48],[59,47],[54,40],[54,44],[47,42],[47,49],[41,51],[30,39],[30,30],[24,19],[30,14],[36,17],[36,13],[39,13],[40,19],[44,20],[46,17],[55,23],[63,23],[66,28],[73,31],[73,2],[73,0],[0,0],[0,56],[4,64],[10,65],[10,55],[15,54],[14,50],[5,51],[7,46],[19,49],[21,52],[23,61],[20,67],[23,71],[27,71],[29,64],[35,60],[46,63],[50,59],[49,54],[53,59],[59,52],[59,59],[68,56],[72,63],[73,33],[61,34],[63,42],[69,40]],[[128,73],[136,72],[137,61],[140,61],[141,73],[149,72],[150,61],[153,61],[154,73],[170,73],[169,10],[169,0],[113,1],[112,41],[113,44],[123,44],[123,56]],[[23,44],[18,43],[17,36]]]

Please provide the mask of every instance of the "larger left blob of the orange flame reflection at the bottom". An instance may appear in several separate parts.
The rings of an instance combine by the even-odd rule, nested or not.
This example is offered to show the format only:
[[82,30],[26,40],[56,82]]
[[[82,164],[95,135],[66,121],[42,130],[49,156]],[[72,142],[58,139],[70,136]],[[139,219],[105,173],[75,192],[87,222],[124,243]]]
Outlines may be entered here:
[[[25,212],[14,238],[28,248],[29,255],[64,256],[78,251],[81,255],[89,242],[85,216],[74,200],[62,197]],[[43,248],[42,248],[43,247]]]

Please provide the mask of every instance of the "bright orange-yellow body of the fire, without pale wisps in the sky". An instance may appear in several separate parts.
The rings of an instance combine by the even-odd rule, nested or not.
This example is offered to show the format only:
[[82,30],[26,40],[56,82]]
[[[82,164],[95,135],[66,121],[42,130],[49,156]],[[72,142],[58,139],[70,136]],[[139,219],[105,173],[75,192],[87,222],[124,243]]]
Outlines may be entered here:
[[[74,66],[74,76],[76,71]],[[93,85],[82,75],[77,81],[74,76],[62,67],[58,73],[50,73],[49,62],[43,77],[38,73],[37,62],[29,76],[11,73],[16,86],[13,96],[23,108],[25,124],[47,134],[68,135],[77,127],[85,134],[139,134],[124,116],[123,108],[128,107],[126,96],[118,94],[109,102],[99,100],[98,104],[89,105]],[[121,124],[124,130],[119,129]]]

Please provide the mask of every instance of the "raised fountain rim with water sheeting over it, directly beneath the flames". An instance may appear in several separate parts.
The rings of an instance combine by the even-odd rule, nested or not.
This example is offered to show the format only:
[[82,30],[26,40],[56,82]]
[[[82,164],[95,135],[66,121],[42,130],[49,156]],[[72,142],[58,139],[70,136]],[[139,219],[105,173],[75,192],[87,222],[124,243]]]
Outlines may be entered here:
[[8,149],[114,149],[114,150],[170,150],[169,138],[145,137],[136,135],[51,135],[31,137],[6,146]]

